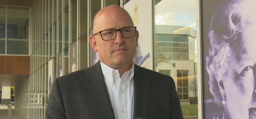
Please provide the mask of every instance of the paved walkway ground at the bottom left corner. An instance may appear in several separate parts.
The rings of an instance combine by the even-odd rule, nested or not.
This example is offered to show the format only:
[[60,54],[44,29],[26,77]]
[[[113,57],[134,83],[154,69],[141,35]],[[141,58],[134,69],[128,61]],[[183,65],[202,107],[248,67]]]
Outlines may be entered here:
[[[12,119],[27,119],[24,116],[22,116],[18,111],[16,111],[14,109],[14,106],[12,106],[11,118]],[[8,119],[8,108],[7,108],[7,106],[4,107],[3,105],[0,105],[0,119]]]

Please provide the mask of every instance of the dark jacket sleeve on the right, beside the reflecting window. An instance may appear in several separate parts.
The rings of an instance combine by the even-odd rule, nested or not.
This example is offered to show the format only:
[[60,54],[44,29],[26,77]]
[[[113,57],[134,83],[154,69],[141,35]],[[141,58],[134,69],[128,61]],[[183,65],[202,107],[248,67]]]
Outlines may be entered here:
[[170,119],[183,119],[181,104],[176,92],[175,83],[171,78],[171,103],[170,103]]

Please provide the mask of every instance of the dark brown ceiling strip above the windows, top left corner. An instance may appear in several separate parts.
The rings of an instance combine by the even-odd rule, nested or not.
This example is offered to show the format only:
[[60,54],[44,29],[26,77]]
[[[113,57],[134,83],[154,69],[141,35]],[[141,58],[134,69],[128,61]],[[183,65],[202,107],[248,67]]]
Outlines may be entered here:
[[0,0],[0,5],[30,7],[32,0]]

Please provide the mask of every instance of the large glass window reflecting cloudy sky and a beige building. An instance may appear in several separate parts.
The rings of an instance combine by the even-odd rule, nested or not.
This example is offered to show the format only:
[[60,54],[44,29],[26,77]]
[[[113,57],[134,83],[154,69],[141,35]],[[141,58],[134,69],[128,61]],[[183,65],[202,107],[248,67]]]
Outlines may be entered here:
[[196,1],[154,3],[155,70],[173,77],[183,116],[198,117]]

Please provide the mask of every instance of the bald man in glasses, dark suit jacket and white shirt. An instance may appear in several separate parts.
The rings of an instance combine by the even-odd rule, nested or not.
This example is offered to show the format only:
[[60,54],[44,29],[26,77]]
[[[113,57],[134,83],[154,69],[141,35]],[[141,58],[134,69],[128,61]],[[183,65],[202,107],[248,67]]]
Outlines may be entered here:
[[93,33],[99,61],[53,82],[47,119],[183,118],[173,79],[133,63],[139,32],[125,9],[101,9]]

